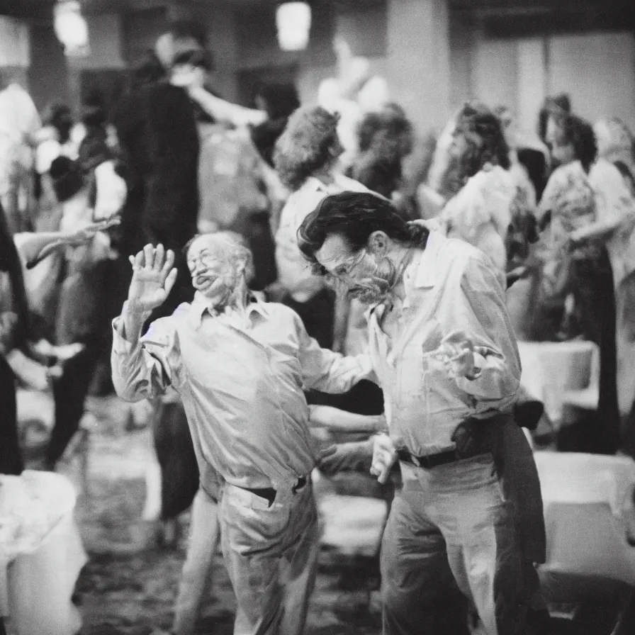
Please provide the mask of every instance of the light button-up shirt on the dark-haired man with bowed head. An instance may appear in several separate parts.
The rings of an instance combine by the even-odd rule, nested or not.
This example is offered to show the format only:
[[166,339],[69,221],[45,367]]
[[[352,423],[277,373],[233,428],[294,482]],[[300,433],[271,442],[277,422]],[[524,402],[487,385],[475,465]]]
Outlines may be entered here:
[[[381,328],[383,305],[369,312],[371,359],[384,391],[390,436],[416,456],[454,449],[451,436],[468,417],[508,412],[520,359],[498,270],[462,240],[430,232],[405,270],[397,335]],[[478,377],[452,377],[435,359],[442,339],[463,330],[473,339]]]

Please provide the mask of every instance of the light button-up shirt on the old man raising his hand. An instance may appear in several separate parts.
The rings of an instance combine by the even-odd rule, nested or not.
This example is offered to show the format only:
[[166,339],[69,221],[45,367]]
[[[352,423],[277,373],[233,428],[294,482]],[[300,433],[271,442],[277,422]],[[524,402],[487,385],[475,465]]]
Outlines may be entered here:
[[[296,313],[276,303],[211,311],[197,294],[152,322],[137,345],[113,322],[113,383],[125,400],[181,396],[199,467],[232,485],[278,488],[315,466],[303,388],[342,393],[371,374],[367,356],[321,349]],[[210,485],[214,490],[215,484]]]

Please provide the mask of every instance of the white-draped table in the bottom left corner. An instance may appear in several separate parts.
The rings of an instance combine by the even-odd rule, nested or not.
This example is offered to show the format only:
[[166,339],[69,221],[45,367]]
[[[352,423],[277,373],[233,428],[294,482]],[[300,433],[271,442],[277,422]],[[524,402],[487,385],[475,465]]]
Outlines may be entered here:
[[74,635],[71,597],[86,553],[70,481],[50,472],[0,476],[0,610],[9,633]]

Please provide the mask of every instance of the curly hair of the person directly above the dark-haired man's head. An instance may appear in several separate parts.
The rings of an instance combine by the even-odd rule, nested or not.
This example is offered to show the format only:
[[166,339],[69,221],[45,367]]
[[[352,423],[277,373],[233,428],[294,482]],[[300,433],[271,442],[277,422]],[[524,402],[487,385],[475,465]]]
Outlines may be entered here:
[[337,155],[339,116],[321,106],[298,108],[274,148],[274,165],[282,183],[296,191]]

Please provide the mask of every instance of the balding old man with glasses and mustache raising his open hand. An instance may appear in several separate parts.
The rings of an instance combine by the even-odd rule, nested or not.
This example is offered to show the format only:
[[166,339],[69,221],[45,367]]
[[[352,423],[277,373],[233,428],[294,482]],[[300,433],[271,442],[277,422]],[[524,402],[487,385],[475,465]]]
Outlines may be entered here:
[[181,396],[201,487],[212,499],[222,493],[235,635],[300,635],[315,581],[310,472],[320,459],[303,388],[344,392],[371,369],[363,356],[320,349],[293,310],[252,298],[249,257],[223,233],[196,237],[186,252],[193,302],[143,337],[174,284],[174,254],[146,245],[131,258],[128,300],[113,323],[113,383],[130,401],[168,386]]

